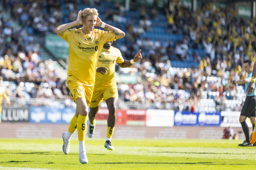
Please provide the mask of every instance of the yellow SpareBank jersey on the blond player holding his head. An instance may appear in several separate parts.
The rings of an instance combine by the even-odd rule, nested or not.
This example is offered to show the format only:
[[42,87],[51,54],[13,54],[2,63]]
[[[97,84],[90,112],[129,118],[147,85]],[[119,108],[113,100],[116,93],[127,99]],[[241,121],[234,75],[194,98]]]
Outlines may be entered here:
[[93,86],[100,51],[107,41],[115,39],[115,34],[98,29],[93,29],[91,34],[84,34],[82,28],[73,28],[66,30],[60,37],[69,44],[67,82],[78,80],[86,86]]

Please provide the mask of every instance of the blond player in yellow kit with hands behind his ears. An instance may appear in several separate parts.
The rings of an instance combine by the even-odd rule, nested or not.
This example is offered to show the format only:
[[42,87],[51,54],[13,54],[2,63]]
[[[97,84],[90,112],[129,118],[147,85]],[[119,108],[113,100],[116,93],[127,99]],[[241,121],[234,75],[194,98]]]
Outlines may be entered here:
[[[97,59],[105,42],[125,36],[125,33],[120,29],[102,22],[98,15],[97,9],[85,8],[78,12],[76,21],[62,24],[55,29],[58,36],[69,44],[67,84],[71,97],[77,105],[76,114],[70,122],[68,131],[62,134],[62,149],[65,154],[68,154],[70,138],[77,128],[79,161],[82,164],[88,163],[84,141],[88,106],[95,82]],[[79,29],[70,29],[78,25],[83,26]],[[105,28],[109,32],[94,29],[95,26]]]

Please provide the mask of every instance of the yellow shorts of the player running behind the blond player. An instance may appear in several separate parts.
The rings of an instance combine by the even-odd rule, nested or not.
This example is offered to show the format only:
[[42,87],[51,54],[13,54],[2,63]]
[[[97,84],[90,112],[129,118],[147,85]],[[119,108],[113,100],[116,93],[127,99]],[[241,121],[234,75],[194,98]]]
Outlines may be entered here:
[[106,100],[111,97],[118,99],[118,90],[116,84],[106,87],[95,87],[93,90],[90,107],[95,108],[100,105],[102,100]]

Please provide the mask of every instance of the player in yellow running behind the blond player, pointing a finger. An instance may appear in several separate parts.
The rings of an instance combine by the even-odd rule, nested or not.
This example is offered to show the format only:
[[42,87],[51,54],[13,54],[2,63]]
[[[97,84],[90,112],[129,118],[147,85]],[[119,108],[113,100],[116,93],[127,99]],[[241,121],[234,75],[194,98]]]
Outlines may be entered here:
[[109,41],[104,44],[98,59],[95,85],[90,103],[90,124],[87,132],[88,137],[91,138],[94,134],[95,117],[100,108],[100,103],[102,100],[105,100],[109,109],[107,136],[105,141],[105,148],[108,150],[114,149],[111,145],[111,137],[115,128],[116,103],[118,100],[118,89],[114,77],[115,63],[120,67],[125,68],[131,66],[142,58],[140,53],[141,50],[139,50],[132,60],[124,60],[120,50],[111,46],[112,43],[113,41]]

